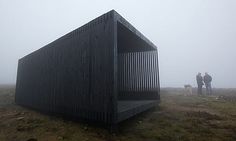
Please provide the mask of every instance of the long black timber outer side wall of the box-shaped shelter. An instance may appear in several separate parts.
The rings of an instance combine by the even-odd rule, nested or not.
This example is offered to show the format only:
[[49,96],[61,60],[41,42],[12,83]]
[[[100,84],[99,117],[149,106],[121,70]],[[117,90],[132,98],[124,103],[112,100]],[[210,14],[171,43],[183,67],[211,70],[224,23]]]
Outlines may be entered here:
[[110,12],[20,59],[16,103],[110,123],[113,30]]

